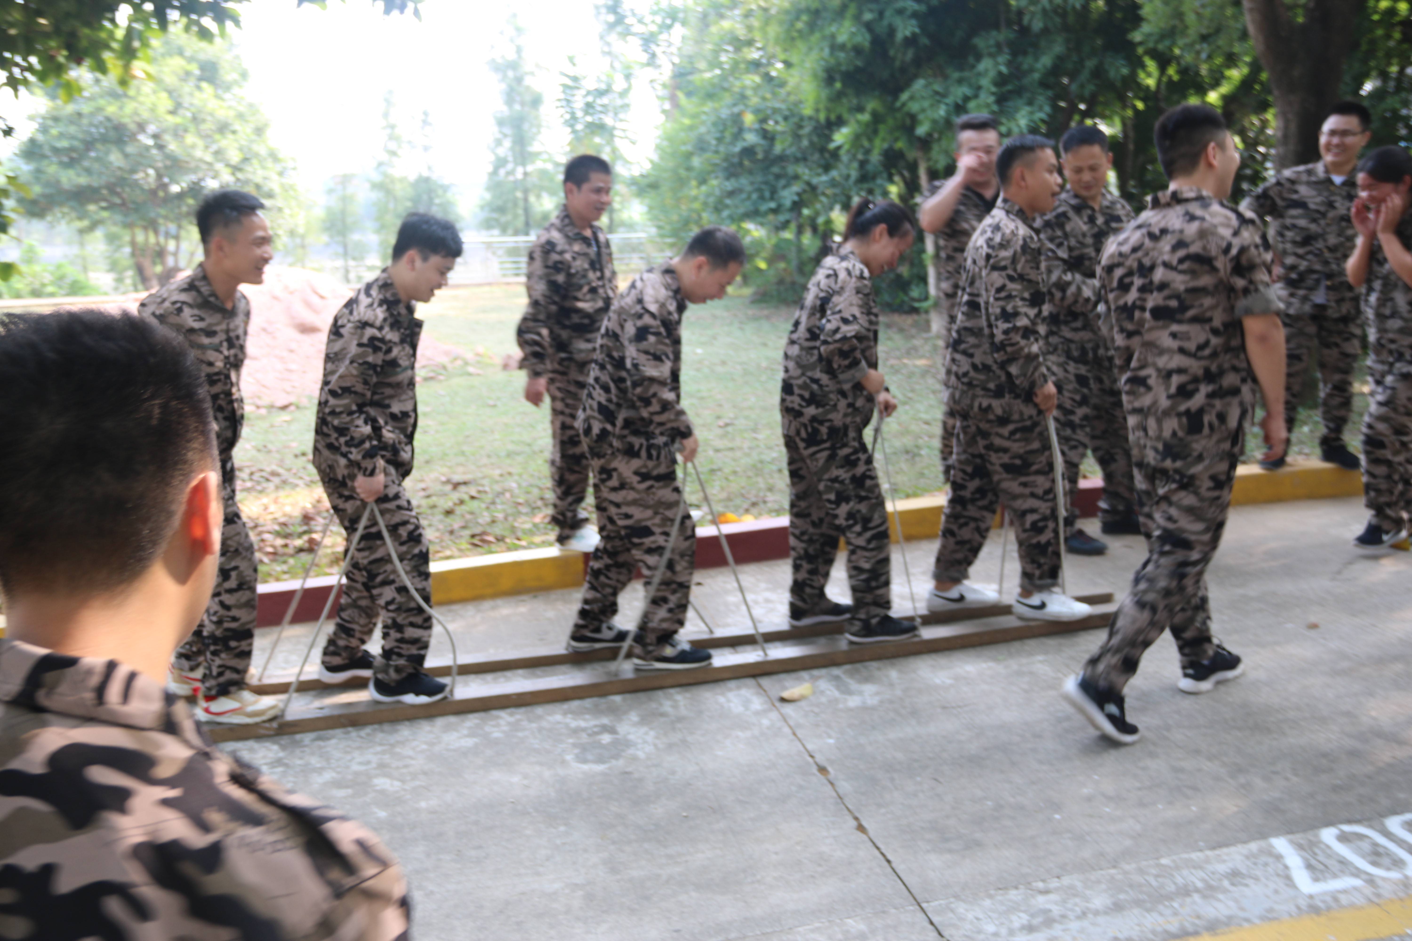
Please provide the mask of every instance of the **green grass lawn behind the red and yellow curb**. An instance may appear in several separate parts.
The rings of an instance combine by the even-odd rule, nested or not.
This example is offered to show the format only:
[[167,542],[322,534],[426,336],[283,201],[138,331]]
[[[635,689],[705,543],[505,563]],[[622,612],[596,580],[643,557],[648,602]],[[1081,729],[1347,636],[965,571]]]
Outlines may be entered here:
[[[554,528],[548,405],[522,398],[524,372],[500,360],[515,350],[520,285],[452,288],[421,308],[426,333],[470,354],[469,363],[422,370],[417,468],[408,490],[433,559],[549,546]],[[792,308],[746,298],[689,308],[683,327],[683,403],[702,440],[700,461],[717,512],[784,515],[788,477],[779,437],[779,356]],[[887,450],[898,497],[940,490],[940,385],[936,340],[925,316],[885,315],[882,371],[901,402]],[[1365,408],[1357,396],[1356,420]],[[240,505],[260,554],[260,580],[297,578],[308,563],[328,502],[309,464],[313,402],[251,411],[236,450]],[[1300,413],[1295,454],[1317,451],[1317,418]],[[1357,425],[1354,425],[1357,427]],[[1258,453],[1258,433],[1251,439]],[[1096,474],[1097,468],[1087,467]],[[690,499],[705,506],[695,482]],[[592,509],[592,508],[590,508]],[[333,526],[316,573],[336,570],[343,532]]]

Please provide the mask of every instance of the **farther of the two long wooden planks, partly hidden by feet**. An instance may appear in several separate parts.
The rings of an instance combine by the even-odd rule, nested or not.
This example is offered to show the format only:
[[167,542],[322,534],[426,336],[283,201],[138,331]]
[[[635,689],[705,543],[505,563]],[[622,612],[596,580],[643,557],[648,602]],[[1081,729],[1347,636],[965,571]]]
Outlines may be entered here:
[[[1113,593],[1104,591],[1100,594],[1090,595],[1076,595],[1076,601],[1083,601],[1090,605],[1101,605],[1113,601]],[[969,608],[963,611],[947,611],[942,614],[923,614],[921,615],[921,622],[923,625],[935,624],[957,624],[963,621],[980,621],[984,618],[998,618],[1010,614],[1008,604],[997,604],[988,608]],[[806,641],[809,638],[820,638],[843,633],[846,624],[818,624],[808,628],[788,628],[784,631],[764,631],[764,638],[767,643],[775,643],[779,641]],[[719,648],[737,648],[737,646],[754,646],[755,635],[751,631],[737,632],[737,633],[714,633],[705,638],[692,638],[692,646],[705,649],[719,649]],[[507,670],[528,670],[534,667],[544,666],[563,666],[568,663],[594,663],[600,660],[611,660],[617,656],[616,650],[590,650],[589,653],[569,653],[566,650],[514,650],[501,653],[487,653],[479,656],[463,657],[457,664],[457,676],[473,676],[476,673],[503,673]],[[313,673],[318,667],[305,667],[306,673]],[[426,672],[432,676],[450,676],[450,663],[435,663],[426,667]],[[254,683],[250,686],[251,690],[260,696],[284,696],[289,691],[289,681],[294,677],[289,673],[284,676],[271,677],[268,683]],[[326,690],[326,688],[352,688],[352,687],[330,687],[319,680],[305,679],[299,681],[299,691],[306,690]]]

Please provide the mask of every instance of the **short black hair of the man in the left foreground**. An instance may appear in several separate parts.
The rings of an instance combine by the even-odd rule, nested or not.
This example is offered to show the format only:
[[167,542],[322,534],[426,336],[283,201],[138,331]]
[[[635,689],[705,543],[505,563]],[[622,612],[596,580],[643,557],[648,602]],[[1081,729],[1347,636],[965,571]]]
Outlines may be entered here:
[[0,320],[0,590],[102,594],[141,576],[216,461],[186,344],[99,310]]

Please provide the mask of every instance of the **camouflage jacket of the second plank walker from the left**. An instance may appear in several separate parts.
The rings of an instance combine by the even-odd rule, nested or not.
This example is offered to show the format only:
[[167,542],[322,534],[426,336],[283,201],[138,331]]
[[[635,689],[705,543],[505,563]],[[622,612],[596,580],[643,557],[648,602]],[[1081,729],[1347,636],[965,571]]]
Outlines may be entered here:
[[333,315],[313,425],[313,463],[322,471],[371,477],[381,459],[397,480],[412,473],[422,336],[415,310],[384,268]]

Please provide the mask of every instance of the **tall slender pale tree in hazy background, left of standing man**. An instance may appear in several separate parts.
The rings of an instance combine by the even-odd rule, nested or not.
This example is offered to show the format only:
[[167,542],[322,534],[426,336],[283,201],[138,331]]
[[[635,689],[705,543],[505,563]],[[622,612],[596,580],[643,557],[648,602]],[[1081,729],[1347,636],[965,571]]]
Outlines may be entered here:
[[556,202],[555,174],[539,150],[544,95],[530,83],[524,31],[511,20],[508,49],[490,61],[500,83],[503,110],[496,111],[490,174],[480,200],[484,226],[504,236],[530,236],[541,229]]

